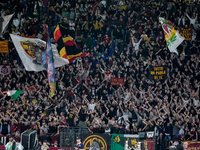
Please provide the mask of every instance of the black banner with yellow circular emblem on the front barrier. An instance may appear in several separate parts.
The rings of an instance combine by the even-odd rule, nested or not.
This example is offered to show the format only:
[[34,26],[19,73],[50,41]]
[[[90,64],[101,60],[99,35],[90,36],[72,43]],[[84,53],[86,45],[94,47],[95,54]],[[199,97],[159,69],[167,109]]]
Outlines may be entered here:
[[81,134],[80,136],[84,150],[109,149],[110,136],[108,134]]

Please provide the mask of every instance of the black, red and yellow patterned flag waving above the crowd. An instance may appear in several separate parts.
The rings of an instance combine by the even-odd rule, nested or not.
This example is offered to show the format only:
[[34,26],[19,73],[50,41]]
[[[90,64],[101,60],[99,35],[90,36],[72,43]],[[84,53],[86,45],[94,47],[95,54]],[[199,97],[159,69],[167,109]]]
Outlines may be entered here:
[[78,49],[76,42],[72,37],[62,37],[59,25],[57,25],[54,31],[54,39],[58,44],[60,57],[68,59],[69,63],[72,63],[74,59],[78,57],[88,56],[87,53],[83,53],[80,49]]

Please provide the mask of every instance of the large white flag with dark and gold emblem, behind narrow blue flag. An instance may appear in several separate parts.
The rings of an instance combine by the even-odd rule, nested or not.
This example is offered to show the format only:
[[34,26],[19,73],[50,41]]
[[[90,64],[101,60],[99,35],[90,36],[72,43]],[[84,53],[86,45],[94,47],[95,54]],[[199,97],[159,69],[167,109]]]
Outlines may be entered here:
[[[25,38],[10,34],[15,48],[21,58],[23,65],[27,71],[43,71],[46,68],[41,64],[45,51],[46,42],[37,38]],[[56,45],[51,45],[54,56],[55,67],[61,67],[69,64],[69,61],[59,56]]]

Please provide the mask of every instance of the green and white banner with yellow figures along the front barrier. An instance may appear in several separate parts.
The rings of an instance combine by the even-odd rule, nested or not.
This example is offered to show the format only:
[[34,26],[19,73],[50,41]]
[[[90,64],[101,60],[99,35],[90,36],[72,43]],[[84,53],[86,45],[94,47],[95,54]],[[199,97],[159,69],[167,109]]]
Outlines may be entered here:
[[138,135],[112,134],[111,150],[124,150],[126,148],[138,149],[141,147]]

